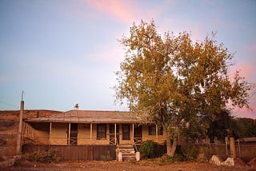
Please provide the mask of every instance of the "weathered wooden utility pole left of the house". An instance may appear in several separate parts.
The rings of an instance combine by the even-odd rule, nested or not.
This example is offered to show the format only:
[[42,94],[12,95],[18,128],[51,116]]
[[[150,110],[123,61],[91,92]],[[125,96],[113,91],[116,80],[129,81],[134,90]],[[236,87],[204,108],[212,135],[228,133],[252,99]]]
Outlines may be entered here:
[[17,155],[22,154],[22,119],[23,119],[23,110],[24,110],[23,93],[24,91],[22,91],[21,109],[19,112],[19,121],[18,121],[18,136],[17,136],[17,146],[16,146]]

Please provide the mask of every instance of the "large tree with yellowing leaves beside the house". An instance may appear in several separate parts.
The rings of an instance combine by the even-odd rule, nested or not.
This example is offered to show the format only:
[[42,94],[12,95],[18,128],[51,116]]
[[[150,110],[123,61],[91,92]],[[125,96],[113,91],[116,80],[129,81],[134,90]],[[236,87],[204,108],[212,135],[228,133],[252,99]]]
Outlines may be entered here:
[[214,36],[193,42],[186,32],[161,35],[152,20],[131,26],[130,36],[120,42],[126,58],[117,72],[116,97],[127,101],[133,113],[166,129],[170,156],[178,135],[188,129],[205,133],[206,121],[228,102],[248,107],[250,86],[238,72],[230,78],[233,54]]

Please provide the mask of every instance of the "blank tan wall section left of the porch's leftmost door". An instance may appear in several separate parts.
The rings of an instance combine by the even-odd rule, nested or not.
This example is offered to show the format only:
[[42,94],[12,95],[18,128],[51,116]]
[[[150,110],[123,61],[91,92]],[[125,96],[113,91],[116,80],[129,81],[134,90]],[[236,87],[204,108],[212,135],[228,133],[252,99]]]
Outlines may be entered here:
[[52,123],[50,145],[67,145],[67,123]]

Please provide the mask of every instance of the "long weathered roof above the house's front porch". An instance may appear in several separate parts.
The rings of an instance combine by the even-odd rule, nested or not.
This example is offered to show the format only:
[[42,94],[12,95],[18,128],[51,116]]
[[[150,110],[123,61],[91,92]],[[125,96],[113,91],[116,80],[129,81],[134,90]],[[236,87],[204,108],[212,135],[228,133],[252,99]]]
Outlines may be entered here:
[[70,110],[47,117],[26,118],[24,121],[64,123],[140,123],[141,119],[130,112]]

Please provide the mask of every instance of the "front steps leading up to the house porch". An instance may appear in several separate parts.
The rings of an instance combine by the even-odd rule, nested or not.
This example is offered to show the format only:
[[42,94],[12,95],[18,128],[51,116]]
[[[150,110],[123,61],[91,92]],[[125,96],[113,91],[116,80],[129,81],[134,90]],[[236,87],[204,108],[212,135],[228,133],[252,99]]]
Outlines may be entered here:
[[118,153],[122,153],[122,161],[135,161],[136,160],[136,154],[134,151],[133,145],[119,145],[118,149],[116,151],[116,156],[118,160]]

